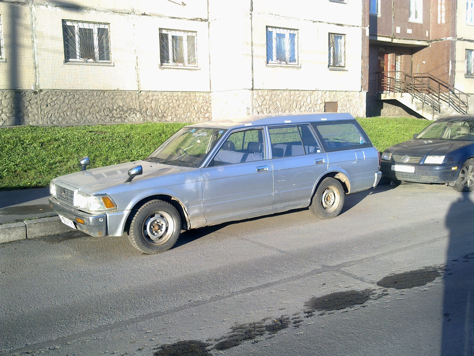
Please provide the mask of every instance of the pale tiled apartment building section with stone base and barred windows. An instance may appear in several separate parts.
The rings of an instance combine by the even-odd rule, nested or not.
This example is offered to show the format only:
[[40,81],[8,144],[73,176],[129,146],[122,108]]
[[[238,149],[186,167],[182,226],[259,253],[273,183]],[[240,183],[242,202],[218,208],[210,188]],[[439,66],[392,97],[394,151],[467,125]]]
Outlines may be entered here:
[[0,126],[365,115],[361,0],[0,0]]

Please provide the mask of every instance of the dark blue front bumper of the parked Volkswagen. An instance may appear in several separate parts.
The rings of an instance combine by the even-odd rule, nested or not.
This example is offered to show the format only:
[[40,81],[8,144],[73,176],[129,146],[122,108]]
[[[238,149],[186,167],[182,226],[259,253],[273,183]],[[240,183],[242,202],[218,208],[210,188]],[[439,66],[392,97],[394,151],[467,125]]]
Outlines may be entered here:
[[393,162],[384,162],[380,164],[382,177],[396,180],[405,180],[417,183],[450,183],[456,181],[459,176],[459,170],[446,166],[426,166],[426,165],[400,165],[401,167],[414,167],[414,172],[394,171]]

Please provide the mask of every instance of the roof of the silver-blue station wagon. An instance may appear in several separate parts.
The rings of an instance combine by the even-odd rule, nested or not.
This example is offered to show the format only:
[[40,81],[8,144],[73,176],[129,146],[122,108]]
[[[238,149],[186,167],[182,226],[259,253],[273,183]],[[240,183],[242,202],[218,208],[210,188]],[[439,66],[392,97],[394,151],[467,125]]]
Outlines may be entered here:
[[206,121],[191,126],[213,127],[213,128],[238,128],[249,126],[264,126],[277,124],[299,124],[307,122],[325,122],[339,120],[355,120],[348,113],[292,113],[292,114],[266,114],[249,115],[237,118],[225,118]]

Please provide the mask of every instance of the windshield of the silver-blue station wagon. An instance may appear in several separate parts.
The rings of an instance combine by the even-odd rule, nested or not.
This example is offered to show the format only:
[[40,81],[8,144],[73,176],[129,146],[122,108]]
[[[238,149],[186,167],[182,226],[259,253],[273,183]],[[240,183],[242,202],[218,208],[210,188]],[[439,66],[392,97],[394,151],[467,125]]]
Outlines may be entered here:
[[161,144],[146,160],[198,167],[225,131],[184,127]]

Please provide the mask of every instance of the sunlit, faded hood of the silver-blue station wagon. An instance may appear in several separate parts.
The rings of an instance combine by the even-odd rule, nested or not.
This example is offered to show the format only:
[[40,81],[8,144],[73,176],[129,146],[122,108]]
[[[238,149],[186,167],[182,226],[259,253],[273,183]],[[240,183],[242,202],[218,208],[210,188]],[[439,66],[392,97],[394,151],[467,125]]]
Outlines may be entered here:
[[160,178],[183,171],[196,170],[196,168],[135,161],[71,173],[52,181],[56,184],[67,185],[73,190],[79,189],[79,191],[87,194],[101,193],[110,190],[110,188],[117,188],[119,185],[131,184],[125,183],[128,178],[128,171],[139,165],[143,168],[143,174],[133,178],[131,183],[134,185],[147,178]]

